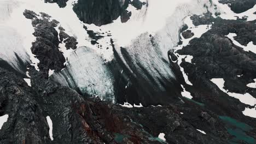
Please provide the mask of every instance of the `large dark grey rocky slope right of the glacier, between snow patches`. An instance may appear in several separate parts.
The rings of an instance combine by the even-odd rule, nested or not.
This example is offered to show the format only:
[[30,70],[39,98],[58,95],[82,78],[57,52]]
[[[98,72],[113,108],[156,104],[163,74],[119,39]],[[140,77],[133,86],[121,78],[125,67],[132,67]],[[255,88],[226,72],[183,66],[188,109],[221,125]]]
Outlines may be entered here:
[[[208,19],[205,16],[200,18],[192,16],[192,20],[197,23],[203,21],[198,19]],[[223,20],[220,18],[211,19],[212,28],[202,34],[200,38],[194,38],[189,45],[178,50],[180,55],[193,56],[191,63],[183,59],[181,67],[184,68],[188,79],[193,86],[187,85],[185,88],[193,96],[193,100],[204,104],[207,109],[217,113],[217,115],[230,116],[251,125],[254,129],[248,133],[252,136],[252,143],[255,142],[255,118],[243,115],[242,111],[249,105],[241,103],[236,98],[230,97],[221,91],[216,84],[210,81],[213,78],[223,78],[224,88],[229,92],[245,94],[249,93],[256,98],[255,88],[246,85],[254,82],[256,77],[256,54],[245,51],[226,37],[229,33],[236,33],[235,40],[241,45],[247,45],[249,41],[255,44],[255,21]],[[177,63],[171,62],[172,69],[177,77],[182,77],[177,68]],[[241,77],[240,77],[241,75]],[[179,78],[177,78],[179,79]],[[179,79],[182,80],[182,79]],[[247,141],[248,142],[248,141]]]

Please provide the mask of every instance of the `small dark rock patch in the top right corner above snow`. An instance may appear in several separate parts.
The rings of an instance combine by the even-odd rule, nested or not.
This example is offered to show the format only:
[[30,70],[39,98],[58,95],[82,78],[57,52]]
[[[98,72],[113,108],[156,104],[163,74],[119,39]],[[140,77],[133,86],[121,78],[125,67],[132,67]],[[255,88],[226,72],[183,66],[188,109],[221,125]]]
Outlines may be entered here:
[[229,4],[229,7],[235,13],[242,13],[251,9],[256,4],[255,0],[219,0],[219,3]]

